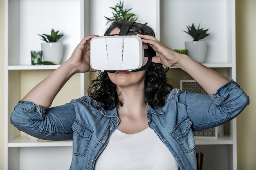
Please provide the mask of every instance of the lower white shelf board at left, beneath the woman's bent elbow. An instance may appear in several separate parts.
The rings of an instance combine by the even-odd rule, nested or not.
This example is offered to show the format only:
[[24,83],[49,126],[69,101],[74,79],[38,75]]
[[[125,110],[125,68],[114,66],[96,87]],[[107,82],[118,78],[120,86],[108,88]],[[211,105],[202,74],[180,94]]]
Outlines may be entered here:
[[72,146],[72,141],[45,141],[39,142],[37,139],[29,139],[20,136],[8,143],[8,147],[52,147],[52,146]]

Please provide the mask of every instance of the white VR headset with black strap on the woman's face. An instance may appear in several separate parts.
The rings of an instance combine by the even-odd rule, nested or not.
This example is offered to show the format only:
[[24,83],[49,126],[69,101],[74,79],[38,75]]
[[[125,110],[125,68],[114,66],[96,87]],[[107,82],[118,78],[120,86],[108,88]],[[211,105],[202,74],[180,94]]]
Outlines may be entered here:
[[116,70],[142,71],[150,66],[151,58],[156,52],[142,43],[138,36],[127,35],[134,23],[124,22],[118,35],[92,38],[91,68],[115,73]]

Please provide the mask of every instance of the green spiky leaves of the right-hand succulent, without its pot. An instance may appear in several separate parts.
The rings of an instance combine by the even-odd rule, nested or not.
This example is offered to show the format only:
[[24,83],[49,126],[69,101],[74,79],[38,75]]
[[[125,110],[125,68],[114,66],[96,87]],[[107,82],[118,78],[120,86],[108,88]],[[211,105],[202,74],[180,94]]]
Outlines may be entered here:
[[184,32],[191,35],[191,37],[194,39],[193,41],[201,40],[209,35],[206,33],[208,29],[204,30],[203,28],[201,29],[199,28],[200,24],[198,25],[198,29],[195,28],[194,24],[192,24],[192,26],[186,26],[186,27],[188,31],[184,31]]

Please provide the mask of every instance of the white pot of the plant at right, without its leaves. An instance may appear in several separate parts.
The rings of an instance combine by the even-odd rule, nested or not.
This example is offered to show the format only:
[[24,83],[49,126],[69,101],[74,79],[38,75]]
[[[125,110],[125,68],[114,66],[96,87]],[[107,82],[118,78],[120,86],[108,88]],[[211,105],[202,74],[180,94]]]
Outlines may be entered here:
[[204,62],[206,53],[206,41],[187,41],[185,49],[188,50],[188,55],[197,62]]

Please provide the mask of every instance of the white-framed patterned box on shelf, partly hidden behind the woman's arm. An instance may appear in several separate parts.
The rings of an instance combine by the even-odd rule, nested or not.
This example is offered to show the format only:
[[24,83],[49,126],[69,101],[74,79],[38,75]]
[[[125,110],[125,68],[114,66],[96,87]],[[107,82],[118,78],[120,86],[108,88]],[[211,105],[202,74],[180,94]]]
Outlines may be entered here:
[[[206,91],[204,91],[204,89],[195,80],[180,80],[180,89],[183,91],[189,91],[191,93],[207,95]],[[198,139],[218,139],[219,137],[224,136],[224,125],[220,125],[215,128],[198,130],[193,133],[194,137]]]

